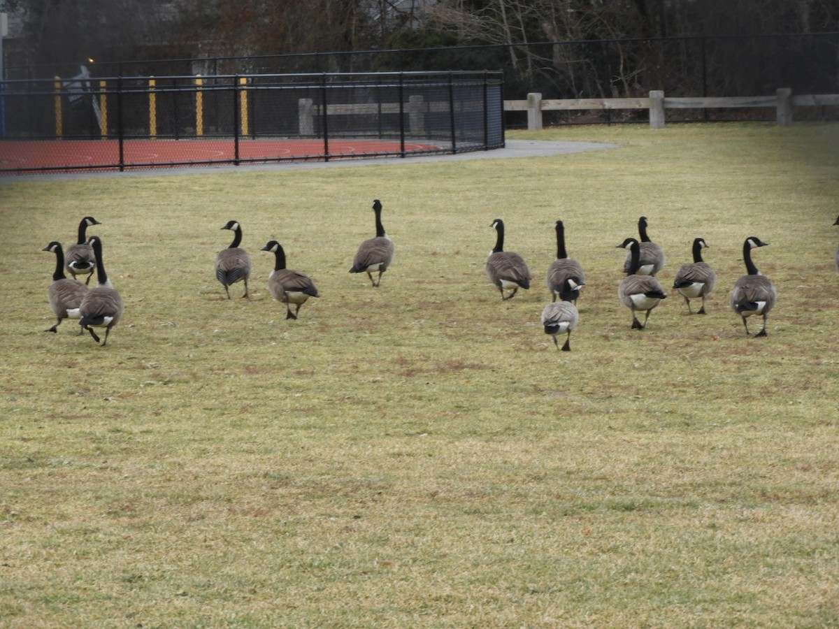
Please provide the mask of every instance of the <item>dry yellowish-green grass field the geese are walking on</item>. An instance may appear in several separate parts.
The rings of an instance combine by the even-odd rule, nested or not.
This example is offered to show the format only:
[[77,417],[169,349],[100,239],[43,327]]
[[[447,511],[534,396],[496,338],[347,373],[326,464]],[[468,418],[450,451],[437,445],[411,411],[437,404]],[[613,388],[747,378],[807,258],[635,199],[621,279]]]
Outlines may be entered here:
[[[0,179],[0,626],[836,626],[839,125],[575,127],[552,158]],[[347,273],[373,236],[396,261]],[[102,225],[108,344],[52,240]],[[638,216],[670,297],[617,298]],[[533,286],[502,302],[490,223]],[[253,299],[213,259],[241,221]],[[556,220],[586,268],[539,325]],[[768,338],[727,296],[743,240]],[[670,290],[704,237],[705,316]],[[270,239],[322,295],[285,320]],[[753,324],[758,330],[758,323]]]

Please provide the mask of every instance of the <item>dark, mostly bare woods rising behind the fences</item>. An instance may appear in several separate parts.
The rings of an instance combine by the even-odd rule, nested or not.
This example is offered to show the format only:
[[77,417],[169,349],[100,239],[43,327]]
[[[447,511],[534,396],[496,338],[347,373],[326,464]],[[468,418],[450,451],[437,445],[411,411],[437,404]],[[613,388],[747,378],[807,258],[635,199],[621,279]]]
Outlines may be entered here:
[[8,79],[79,65],[96,76],[500,69],[508,98],[839,91],[835,0],[0,0],[0,10],[13,24]]

